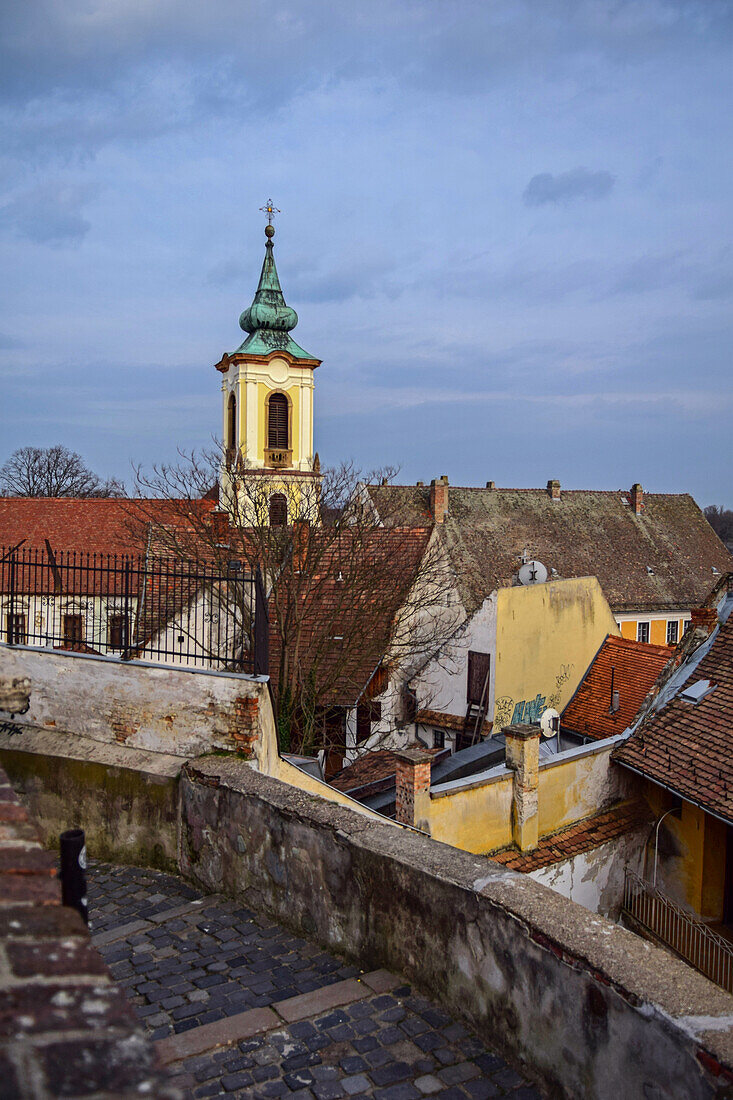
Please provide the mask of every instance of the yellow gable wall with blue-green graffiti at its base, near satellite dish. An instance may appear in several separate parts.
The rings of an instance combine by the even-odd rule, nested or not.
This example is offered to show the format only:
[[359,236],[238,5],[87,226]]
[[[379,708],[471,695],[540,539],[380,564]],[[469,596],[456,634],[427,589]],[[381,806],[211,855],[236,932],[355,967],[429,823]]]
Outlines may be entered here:
[[594,576],[500,588],[494,725],[561,712],[609,634],[619,627]]

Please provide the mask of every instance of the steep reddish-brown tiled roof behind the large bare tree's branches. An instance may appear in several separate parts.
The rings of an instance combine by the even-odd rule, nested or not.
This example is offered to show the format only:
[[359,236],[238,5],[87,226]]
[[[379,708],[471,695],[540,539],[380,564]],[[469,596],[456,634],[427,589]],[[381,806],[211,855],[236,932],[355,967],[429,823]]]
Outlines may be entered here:
[[[353,704],[368,686],[390,650],[395,617],[417,576],[430,534],[426,528],[373,528],[353,536],[343,531],[338,541],[324,535],[329,541],[307,578],[297,656],[291,653],[304,675],[314,676],[320,704]],[[308,538],[317,540],[318,530],[311,530]],[[298,575],[285,570],[274,590],[277,584],[297,586]],[[282,604],[288,608],[293,601],[284,596]],[[281,659],[276,591],[270,602],[270,673],[276,686]],[[294,632],[291,637],[294,648]],[[325,684],[326,695],[321,692]]]

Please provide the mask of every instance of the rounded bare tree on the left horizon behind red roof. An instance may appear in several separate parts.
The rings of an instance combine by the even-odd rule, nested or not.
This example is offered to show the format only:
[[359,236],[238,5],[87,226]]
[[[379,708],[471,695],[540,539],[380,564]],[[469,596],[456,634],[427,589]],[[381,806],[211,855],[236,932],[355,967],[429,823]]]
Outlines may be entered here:
[[3,496],[122,496],[116,479],[102,481],[76,451],[56,447],[21,447],[0,468]]

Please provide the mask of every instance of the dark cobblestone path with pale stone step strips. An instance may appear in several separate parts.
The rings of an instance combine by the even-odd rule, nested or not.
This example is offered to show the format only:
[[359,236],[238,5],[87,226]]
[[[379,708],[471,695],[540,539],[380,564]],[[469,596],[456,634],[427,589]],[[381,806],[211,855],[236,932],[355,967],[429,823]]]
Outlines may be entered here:
[[229,899],[89,870],[92,938],[192,1100],[540,1100],[439,1008]]

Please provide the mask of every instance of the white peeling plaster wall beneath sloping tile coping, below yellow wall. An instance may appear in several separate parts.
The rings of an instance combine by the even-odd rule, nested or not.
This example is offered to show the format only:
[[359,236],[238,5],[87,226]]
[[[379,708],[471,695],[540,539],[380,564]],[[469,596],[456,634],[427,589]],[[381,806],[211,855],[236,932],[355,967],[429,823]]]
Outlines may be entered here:
[[624,897],[624,868],[628,864],[633,870],[638,870],[647,835],[646,829],[627,833],[592,851],[582,851],[572,859],[530,871],[529,878],[557,890],[591,913],[617,921]]

